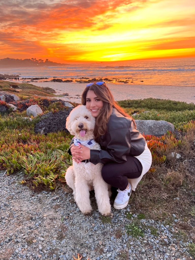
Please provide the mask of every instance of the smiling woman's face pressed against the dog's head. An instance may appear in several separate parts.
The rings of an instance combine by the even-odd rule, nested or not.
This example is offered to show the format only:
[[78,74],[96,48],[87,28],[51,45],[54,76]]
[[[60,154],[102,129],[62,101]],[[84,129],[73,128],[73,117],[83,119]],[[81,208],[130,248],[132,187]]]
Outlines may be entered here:
[[94,117],[97,117],[102,107],[103,101],[96,96],[93,90],[88,90],[86,96],[86,108]]

